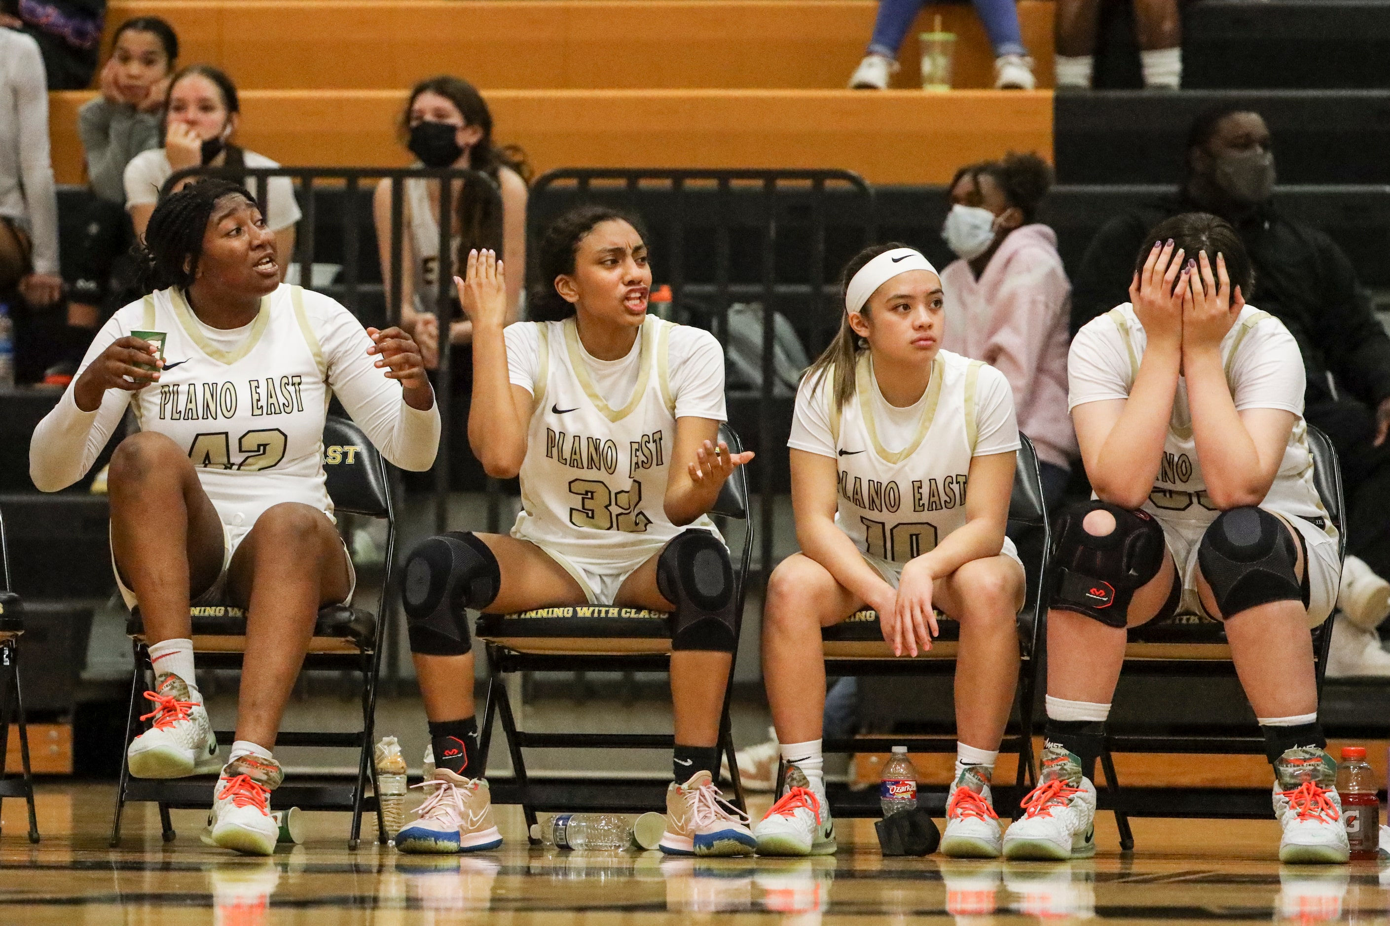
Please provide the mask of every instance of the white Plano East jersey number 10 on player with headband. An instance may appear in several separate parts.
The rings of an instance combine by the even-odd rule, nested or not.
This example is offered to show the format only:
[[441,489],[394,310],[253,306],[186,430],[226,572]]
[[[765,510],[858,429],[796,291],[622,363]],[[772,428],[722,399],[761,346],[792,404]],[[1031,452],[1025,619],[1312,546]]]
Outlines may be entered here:
[[[922,417],[912,439],[897,452],[878,439],[867,350],[855,368],[855,396],[844,407],[835,407],[831,396],[830,432],[840,470],[835,523],[863,552],[906,563],[965,524],[983,367],[980,360],[938,350]],[[821,388],[828,388],[828,380],[830,374]]]

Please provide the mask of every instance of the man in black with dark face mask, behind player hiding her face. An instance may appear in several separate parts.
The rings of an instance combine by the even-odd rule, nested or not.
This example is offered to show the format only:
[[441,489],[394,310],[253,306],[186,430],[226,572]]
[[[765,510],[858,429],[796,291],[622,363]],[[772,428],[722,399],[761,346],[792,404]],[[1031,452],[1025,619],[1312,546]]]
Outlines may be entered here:
[[1390,336],[1347,254],[1272,202],[1277,177],[1265,120],[1248,108],[1201,114],[1187,138],[1184,178],[1172,196],[1106,222],[1091,239],[1072,291],[1072,332],[1125,302],[1131,259],[1147,229],[1188,211],[1225,218],[1250,253],[1259,307],[1298,342],[1308,423],[1332,438],[1347,496],[1347,560],[1327,673],[1390,677],[1376,627],[1390,615]]

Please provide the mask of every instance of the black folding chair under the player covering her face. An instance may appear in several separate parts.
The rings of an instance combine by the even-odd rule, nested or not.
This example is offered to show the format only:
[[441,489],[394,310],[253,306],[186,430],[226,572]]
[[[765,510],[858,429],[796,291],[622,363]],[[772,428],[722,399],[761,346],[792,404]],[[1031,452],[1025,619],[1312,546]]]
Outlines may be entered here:
[[[1312,453],[1314,484],[1337,528],[1337,558],[1346,558],[1347,531],[1341,495],[1341,466],[1332,441],[1318,428],[1308,425],[1308,449]],[[1318,701],[1322,702],[1322,683],[1327,673],[1327,648],[1332,645],[1329,615],[1312,631],[1316,662]],[[1129,631],[1125,647],[1123,674],[1179,676],[1179,677],[1234,677],[1236,665],[1230,659],[1225,624],[1195,615],[1177,615],[1170,620],[1152,622]],[[1105,787],[1099,788],[1099,809],[1115,811],[1120,834],[1120,848],[1134,848],[1131,816],[1166,818],[1272,818],[1269,791],[1234,791],[1227,788],[1120,788],[1115,774],[1115,752],[1176,752],[1187,755],[1264,755],[1265,740],[1259,733],[1127,733],[1109,734],[1101,754]]]

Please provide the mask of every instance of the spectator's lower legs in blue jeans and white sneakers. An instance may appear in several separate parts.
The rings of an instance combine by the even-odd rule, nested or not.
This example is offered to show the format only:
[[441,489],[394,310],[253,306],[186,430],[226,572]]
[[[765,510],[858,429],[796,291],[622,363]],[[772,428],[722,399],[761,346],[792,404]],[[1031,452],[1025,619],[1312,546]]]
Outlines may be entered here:
[[[849,78],[852,90],[887,90],[890,78],[898,72],[898,49],[912,28],[926,0],[878,0],[878,15],[873,24],[873,38],[863,61]],[[1023,47],[1019,11],[1013,0],[974,0],[974,11],[994,46],[994,89],[1031,90],[1033,58]]]

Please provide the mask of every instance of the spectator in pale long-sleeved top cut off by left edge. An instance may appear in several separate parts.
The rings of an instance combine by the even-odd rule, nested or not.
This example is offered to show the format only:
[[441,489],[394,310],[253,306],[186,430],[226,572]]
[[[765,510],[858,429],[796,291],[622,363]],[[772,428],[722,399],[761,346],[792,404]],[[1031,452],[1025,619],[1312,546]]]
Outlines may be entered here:
[[58,199],[39,46],[0,28],[0,299],[14,289],[33,307],[63,296]]

